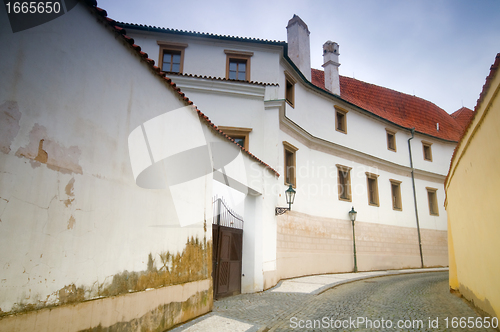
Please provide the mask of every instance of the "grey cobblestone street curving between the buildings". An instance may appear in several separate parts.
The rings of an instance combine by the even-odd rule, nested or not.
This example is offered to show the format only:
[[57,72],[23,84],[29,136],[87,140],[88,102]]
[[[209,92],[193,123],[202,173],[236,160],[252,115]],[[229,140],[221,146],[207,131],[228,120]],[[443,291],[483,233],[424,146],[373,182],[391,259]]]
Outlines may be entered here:
[[[495,331],[452,328],[454,317],[459,324],[462,317],[476,322],[479,316],[450,294],[448,272],[370,278],[317,295],[272,290],[242,294],[215,301],[210,315],[247,324],[230,327],[228,320],[221,331]],[[195,326],[179,331],[197,331]]]

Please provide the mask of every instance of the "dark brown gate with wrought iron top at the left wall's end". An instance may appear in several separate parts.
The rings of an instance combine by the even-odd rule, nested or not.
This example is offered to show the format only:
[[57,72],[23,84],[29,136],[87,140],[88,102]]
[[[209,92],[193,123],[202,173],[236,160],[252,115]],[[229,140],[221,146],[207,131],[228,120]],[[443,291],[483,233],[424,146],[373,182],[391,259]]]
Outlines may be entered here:
[[243,218],[214,199],[212,278],[214,299],[241,293]]

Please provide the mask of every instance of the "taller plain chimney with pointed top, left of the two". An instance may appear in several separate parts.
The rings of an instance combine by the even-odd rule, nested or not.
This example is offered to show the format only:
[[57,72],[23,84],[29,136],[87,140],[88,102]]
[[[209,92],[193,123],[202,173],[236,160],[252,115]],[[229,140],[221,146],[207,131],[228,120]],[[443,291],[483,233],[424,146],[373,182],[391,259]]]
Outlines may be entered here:
[[307,24],[297,15],[288,21],[287,40],[288,56],[302,74],[311,81],[311,51],[309,46],[309,29]]

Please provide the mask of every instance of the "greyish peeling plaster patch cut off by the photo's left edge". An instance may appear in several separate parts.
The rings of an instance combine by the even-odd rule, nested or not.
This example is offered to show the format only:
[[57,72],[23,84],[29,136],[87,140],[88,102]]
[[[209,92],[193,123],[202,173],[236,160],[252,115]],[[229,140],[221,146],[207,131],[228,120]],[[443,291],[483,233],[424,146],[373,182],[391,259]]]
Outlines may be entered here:
[[21,112],[15,101],[6,101],[0,105],[0,151],[10,152],[10,145],[21,128]]

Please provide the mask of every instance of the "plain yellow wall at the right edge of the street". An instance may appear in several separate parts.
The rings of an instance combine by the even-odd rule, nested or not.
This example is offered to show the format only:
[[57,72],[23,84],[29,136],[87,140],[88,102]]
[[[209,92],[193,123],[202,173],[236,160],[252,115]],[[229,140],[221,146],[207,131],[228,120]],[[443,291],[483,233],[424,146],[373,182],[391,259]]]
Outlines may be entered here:
[[500,74],[459,143],[446,181],[450,287],[500,316]]

